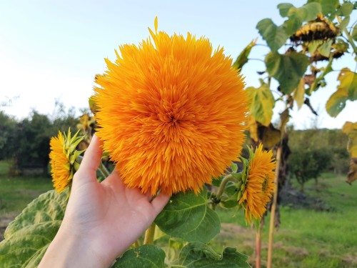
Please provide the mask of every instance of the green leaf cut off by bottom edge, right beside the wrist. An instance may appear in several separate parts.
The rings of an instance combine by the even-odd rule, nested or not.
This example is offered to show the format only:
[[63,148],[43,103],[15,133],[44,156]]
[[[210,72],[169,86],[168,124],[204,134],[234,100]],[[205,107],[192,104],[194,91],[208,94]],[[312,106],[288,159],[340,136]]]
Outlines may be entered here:
[[112,268],[164,268],[165,252],[152,244],[129,249],[117,259]]

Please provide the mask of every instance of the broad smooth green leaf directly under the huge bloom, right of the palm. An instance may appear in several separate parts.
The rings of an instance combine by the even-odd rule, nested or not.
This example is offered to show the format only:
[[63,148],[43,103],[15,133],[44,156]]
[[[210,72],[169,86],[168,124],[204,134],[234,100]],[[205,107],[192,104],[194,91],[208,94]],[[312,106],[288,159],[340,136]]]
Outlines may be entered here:
[[208,242],[221,229],[218,215],[207,207],[207,191],[178,193],[155,219],[155,223],[171,237],[188,242]]

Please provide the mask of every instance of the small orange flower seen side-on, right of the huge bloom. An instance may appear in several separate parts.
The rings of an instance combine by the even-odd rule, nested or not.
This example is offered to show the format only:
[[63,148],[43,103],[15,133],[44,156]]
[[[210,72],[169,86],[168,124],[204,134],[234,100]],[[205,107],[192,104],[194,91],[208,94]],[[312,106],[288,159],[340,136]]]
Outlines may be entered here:
[[270,201],[274,192],[273,170],[276,167],[273,152],[263,150],[262,144],[259,144],[254,153],[250,149],[250,153],[251,157],[248,167],[246,167],[246,184],[243,195],[238,200],[238,203],[242,204],[246,210],[248,222],[251,222],[252,217],[256,220],[261,219],[263,213],[266,212],[266,204]]

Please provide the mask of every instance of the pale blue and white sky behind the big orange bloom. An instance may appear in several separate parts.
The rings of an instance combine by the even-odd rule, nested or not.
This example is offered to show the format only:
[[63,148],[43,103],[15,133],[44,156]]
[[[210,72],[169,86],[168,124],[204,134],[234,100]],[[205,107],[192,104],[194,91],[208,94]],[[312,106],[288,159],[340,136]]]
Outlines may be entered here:
[[[169,34],[206,36],[213,48],[223,46],[225,54],[236,59],[241,50],[258,37],[261,19],[276,24],[283,19],[276,6],[284,1],[264,0],[181,0],[181,1],[0,1],[0,106],[6,114],[24,119],[32,109],[54,114],[54,104],[79,109],[88,107],[94,76],[106,71],[104,58],[115,60],[114,49],[121,44],[139,44],[149,37],[158,16],[159,30]],[[290,1],[296,7],[306,1]],[[355,14],[356,15],[356,14]],[[356,21],[356,16],[351,21]],[[253,48],[251,58],[263,59],[265,46]],[[338,60],[334,69],[356,67],[350,57]],[[241,70],[247,86],[258,86],[256,71],[261,61],[251,60]],[[311,96],[318,111],[314,116],[303,106],[293,109],[291,124],[296,129],[310,127],[336,129],[345,121],[357,121],[356,102],[347,102],[336,118],[328,116],[325,104],[336,91],[338,71],[328,75],[328,86]],[[283,106],[277,105],[273,120]]]

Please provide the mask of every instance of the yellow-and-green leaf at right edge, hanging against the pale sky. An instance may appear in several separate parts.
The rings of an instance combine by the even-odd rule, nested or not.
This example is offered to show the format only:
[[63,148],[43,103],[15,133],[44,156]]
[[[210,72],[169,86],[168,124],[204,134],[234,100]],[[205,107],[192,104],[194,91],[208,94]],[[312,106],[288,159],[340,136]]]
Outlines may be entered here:
[[336,117],[346,106],[346,101],[356,101],[357,99],[357,74],[348,68],[343,68],[338,75],[340,84],[337,91],[330,96],[326,102],[328,114]]

